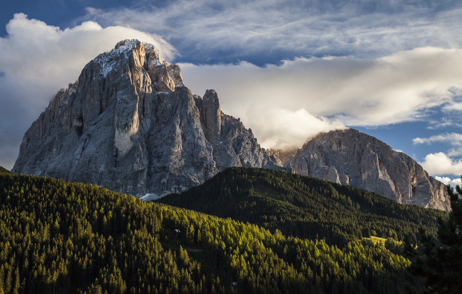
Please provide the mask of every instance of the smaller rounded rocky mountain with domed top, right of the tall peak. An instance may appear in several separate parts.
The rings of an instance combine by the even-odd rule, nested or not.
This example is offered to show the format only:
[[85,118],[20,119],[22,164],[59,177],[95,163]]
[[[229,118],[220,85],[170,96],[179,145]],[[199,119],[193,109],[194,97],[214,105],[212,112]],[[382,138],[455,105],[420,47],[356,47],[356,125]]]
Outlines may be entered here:
[[319,133],[298,149],[288,168],[376,192],[401,204],[450,210],[446,185],[411,157],[356,129]]

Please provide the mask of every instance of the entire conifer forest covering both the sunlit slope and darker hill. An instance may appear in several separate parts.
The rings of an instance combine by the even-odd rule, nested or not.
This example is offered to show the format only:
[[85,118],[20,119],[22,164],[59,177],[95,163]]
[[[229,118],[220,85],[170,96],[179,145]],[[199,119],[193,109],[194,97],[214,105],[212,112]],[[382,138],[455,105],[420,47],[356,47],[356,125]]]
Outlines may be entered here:
[[0,293],[420,293],[404,241],[447,215],[267,169],[153,202],[3,169]]

